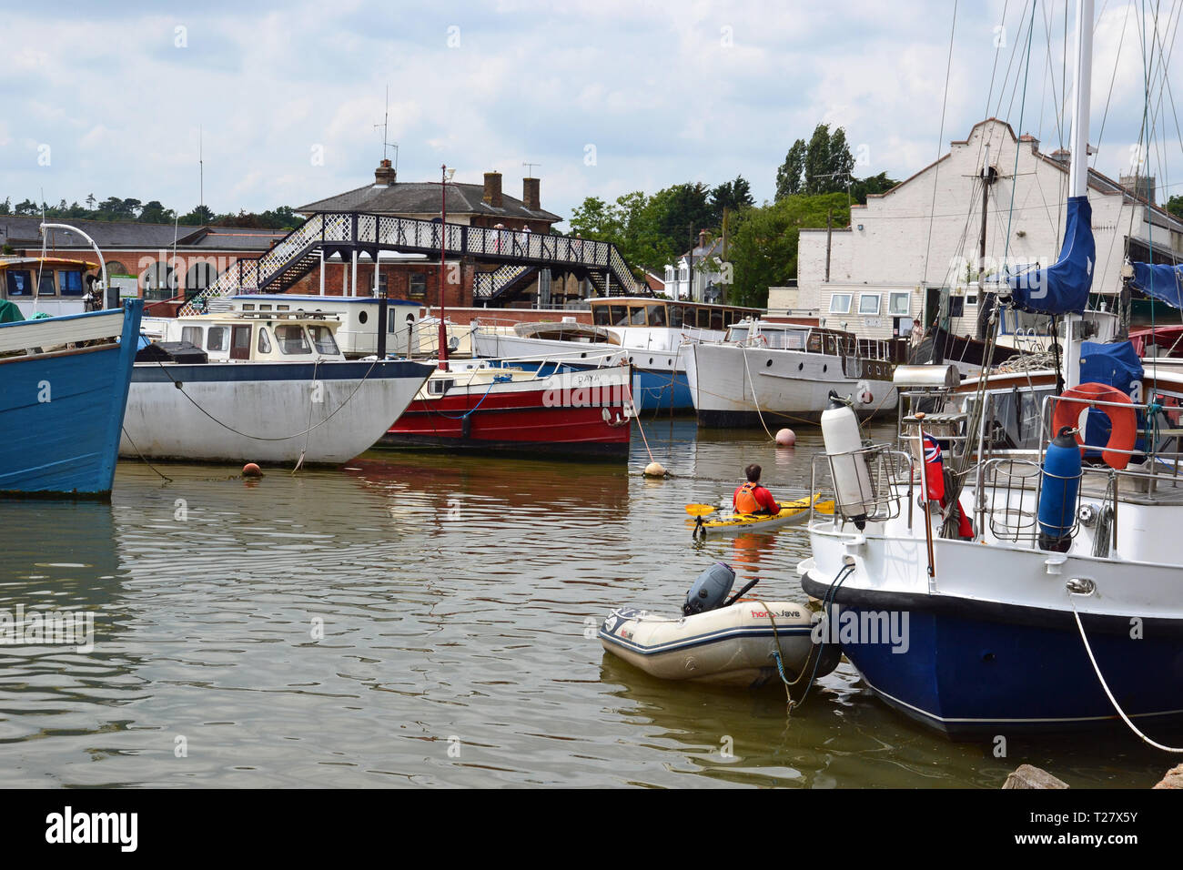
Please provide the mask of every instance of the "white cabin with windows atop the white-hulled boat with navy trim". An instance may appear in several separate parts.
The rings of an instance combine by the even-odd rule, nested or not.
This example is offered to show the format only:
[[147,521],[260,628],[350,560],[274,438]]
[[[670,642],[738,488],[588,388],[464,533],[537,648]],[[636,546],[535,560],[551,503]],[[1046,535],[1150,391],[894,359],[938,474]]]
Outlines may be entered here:
[[341,322],[308,311],[225,311],[187,317],[144,317],[154,341],[183,341],[205,350],[211,362],[312,362],[344,360],[337,346]]

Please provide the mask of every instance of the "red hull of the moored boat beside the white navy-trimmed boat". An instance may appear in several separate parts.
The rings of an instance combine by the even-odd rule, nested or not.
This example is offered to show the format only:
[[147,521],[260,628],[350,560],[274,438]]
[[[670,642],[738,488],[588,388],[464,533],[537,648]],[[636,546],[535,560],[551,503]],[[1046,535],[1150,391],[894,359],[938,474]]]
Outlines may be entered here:
[[551,391],[498,387],[474,385],[415,399],[375,446],[628,457],[632,425],[621,402],[556,405]]

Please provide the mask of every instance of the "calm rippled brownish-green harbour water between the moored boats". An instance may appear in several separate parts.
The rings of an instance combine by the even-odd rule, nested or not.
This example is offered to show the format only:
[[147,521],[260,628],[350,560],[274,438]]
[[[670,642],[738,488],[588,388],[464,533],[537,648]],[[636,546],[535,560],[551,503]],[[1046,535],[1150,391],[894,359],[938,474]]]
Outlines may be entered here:
[[[646,424],[677,477],[374,452],[342,471],[119,465],[111,504],[0,502],[0,611],[96,613],[95,647],[0,646],[5,786],[981,786],[1019,763],[1072,786],[1156,782],[1111,739],[950,743],[848,664],[787,718],[783,690],[654,681],[584,636],[677,611],[711,561],[804,600],[803,530],[691,542],[683,505],[749,462],[803,495],[816,430]],[[697,437],[696,437],[697,436]],[[733,756],[720,749],[733,745]]]

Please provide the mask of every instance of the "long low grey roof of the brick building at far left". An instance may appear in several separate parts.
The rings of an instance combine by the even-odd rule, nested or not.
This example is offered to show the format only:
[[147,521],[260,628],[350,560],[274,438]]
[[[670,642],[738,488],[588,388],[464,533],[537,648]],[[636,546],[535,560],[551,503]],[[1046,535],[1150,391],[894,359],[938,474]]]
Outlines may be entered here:
[[[51,221],[59,220],[51,218]],[[138,220],[89,220],[65,218],[70,224],[95,239],[103,250],[127,247],[132,250],[172,247],[209,247],[233,251],[266,251],[272,243],[287,234],[286,230],[253,230],[232,226],[183,226],[147,224]],[[0,243],[13,247],[40,247],[41,218],[15,214],[0,215]],[[90,244],[67,230],[50,230],[52,249],[86,249]]]

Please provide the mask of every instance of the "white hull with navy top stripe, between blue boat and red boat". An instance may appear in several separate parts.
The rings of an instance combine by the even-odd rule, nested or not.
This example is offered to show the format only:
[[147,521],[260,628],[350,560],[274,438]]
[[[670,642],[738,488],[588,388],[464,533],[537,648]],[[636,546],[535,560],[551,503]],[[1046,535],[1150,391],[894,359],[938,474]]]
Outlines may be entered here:
[[431,372],[402,361],[137,363],[119,456],[340,465],[386,433]]

